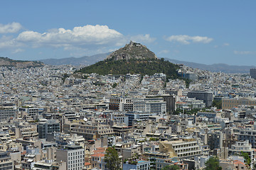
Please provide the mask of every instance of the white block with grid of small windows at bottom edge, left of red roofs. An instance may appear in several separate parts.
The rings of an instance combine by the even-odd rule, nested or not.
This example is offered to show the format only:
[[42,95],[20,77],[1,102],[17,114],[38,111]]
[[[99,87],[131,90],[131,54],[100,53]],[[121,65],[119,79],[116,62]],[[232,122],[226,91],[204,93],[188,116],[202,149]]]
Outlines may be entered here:
[[63,149],[57,149],[56,161],[66,162],[68,170],[80,170],[85,164],[85,149],[78,145],[66,145]]

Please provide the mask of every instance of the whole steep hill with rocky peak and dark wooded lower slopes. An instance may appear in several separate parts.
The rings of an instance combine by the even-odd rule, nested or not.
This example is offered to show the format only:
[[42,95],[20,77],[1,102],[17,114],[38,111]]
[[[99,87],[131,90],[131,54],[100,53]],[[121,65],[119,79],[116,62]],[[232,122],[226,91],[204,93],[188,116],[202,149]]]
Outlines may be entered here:
[[178,66],[164,59],[159,60],[146,46],[130,42],[112,52],[105,60],[84,67],[78,72],[97,74],[142,74],[164,73],[166,77],[178,78]]

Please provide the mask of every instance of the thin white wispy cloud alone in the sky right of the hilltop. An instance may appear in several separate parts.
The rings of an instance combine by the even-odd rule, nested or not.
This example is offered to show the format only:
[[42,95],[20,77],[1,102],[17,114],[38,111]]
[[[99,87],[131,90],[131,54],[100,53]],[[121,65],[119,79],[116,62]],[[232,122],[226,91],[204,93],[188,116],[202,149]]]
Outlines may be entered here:
[[164,39],[169,42],[181,42],[186,45],[190,44],[191,42],[209,43],[213,40],[213,38],[189,35],[171,35],[170,37]]

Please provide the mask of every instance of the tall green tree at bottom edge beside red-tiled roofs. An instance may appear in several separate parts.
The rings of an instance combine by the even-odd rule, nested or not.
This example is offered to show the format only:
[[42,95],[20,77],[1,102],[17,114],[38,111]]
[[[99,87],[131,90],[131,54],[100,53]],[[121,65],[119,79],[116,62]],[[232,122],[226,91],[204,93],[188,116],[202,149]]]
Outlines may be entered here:
[[107,169],[119,170],[121,169],[121,159],[119,159],[117,150],[114,147],[108,147],[105,154],[105,162],[107,162]]

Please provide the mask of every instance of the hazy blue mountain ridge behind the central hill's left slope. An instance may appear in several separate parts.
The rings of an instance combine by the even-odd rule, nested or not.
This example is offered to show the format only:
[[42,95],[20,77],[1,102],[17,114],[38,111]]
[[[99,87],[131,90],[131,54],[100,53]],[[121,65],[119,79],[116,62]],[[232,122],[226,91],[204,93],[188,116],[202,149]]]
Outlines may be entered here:
[[45,64],[49,65],[90,65],[95,64],[95,62],[99,62],[101,60],[104,60],[108,55],[110,55],[111,52],[107,52],[104,54],[98,54],[98,55],[92,55],[92,56],[84,56],[84,57],[68,57],[68,58],[62,58],[62,59],[44,59],[39,60]]

